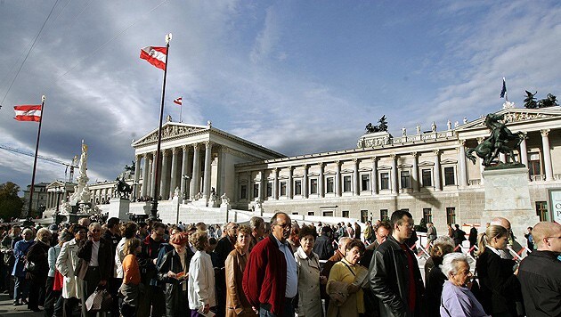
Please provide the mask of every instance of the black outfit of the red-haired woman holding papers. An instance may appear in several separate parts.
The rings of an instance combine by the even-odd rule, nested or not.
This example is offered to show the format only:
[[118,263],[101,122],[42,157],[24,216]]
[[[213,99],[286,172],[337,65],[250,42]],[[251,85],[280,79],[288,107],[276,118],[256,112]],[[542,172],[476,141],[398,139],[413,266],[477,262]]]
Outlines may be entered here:
[[[168,317],[184,316],[186,313],[181,308],[187,300],[186,297],[182,297],[181,290],[183,289],[183,284],[179,280],[167,277],[167,272],[169,271],[175,273],[184,272],[185,274],[189,272],[191,257],[195,254],[191,251],[191,248],[185,248],[185,250],[185,267],[182,267],[181,259],[175,248],[166,253],[158,267],[158,280],[166,283],[166,316]],[[183,282],[187,283],[187,280]]]

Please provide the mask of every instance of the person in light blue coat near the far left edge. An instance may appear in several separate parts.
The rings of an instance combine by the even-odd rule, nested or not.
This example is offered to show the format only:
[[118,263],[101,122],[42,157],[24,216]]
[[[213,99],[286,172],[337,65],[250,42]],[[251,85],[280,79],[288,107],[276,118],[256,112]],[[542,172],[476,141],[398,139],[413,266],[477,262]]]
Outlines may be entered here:
[[21,238],[23,238],[23,240],[19,240],[13,245],[13,257],[15,258],[12,271],[12,276],[15,279],[13,305],[16,306],[21,305],[20,300],[22,303],[27,304],[25,298],[28,297],[29,286],[24,269],[25,256],[28,254],[29,247],[35,243],[35,241],[33,241],[33,231],[29,228],[21,232]]

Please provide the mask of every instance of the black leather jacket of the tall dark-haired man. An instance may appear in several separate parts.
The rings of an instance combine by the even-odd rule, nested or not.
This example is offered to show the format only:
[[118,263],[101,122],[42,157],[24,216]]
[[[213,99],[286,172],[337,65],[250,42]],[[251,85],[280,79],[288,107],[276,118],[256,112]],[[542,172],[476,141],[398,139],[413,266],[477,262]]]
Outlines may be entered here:
[[[413,256],[415,280],[409,279],[407,254]],[[415,283],[415,312],[409,311],[409,283]],[[370,262],[370,287],[378,297],[381,316],[424,316],[425,287],[419,264],[410,248],[403,251],[397,240],[389,236],[372,256]]]

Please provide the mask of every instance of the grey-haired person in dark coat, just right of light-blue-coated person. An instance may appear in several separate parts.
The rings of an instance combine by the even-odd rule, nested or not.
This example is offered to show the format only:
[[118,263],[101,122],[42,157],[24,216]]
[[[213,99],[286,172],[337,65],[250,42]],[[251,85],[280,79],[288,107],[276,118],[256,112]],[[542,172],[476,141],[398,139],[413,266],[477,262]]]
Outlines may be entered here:
[[33,270],[28,272],[31,278],[28,309],[40,312],[39,295],[45,295],[46,278],[49,272],[48,253],[51,248],[51,232],[47,228],[41,228],[35,240],[37,242],[29,247],[27,255],[28,263],[34,264]]

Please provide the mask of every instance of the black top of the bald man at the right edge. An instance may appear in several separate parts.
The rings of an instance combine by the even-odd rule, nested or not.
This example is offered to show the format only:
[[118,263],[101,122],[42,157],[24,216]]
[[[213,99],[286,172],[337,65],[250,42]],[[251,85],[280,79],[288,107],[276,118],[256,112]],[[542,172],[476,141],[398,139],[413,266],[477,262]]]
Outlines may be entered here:
[[561,261],[550,251],[533,251],[518,269],[528,316],[561,316]]

